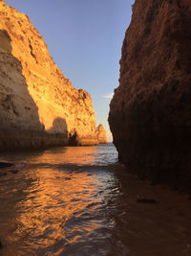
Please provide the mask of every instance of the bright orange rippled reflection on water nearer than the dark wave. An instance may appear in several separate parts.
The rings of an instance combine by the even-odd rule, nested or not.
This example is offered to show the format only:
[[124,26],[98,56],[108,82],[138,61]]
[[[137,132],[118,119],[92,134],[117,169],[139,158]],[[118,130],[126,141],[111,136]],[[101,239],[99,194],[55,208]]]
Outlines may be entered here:
[[56,250],[60,244],[63,250],[63,245],[94,237],[103,222],[96,219],[96,210],[104,200],[104,195],[98,194],[103,189],[100,178],[39,169],[30,179],[32,183],[23,190],[26,197],[16,205],[18,226],[13,235],[21,241],[30,240],[21,251],[27,252],[33,243],[36,248],[54,245]]

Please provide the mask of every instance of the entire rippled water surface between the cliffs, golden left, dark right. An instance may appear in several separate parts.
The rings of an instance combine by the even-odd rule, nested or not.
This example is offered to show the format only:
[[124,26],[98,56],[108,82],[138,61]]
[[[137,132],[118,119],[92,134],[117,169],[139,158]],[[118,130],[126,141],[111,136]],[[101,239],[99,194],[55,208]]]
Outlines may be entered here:
[[113,144],[0,159],[16,164],[0,177],[0,254],[191,255],[191,201],[129,175]]

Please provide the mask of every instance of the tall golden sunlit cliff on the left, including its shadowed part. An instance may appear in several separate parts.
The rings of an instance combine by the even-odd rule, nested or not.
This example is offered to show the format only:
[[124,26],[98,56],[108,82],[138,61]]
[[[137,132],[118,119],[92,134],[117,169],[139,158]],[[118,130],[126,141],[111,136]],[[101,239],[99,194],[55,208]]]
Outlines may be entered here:
[[0,118],[0,150],[98,144],[91,96],[63,76],[29,17],[2,0]]

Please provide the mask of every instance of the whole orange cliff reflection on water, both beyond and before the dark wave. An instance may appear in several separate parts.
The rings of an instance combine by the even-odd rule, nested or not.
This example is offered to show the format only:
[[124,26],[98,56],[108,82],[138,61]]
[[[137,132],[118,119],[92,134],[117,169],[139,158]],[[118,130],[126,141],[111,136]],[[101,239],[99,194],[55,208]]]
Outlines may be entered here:
[[25,168],[0,181],[0,238],[7,244],[5,255],[80,255],[90,248],[105,255],[109,251],[107,238],[114,223],[106,203],[113,200],[110,193],[116,178],[95,166],[105,164],[105,154],[111,154],[108,163],[114,161],[117,152],[100,153],[103,150],[63,148],[7,155],[7,160],[23,160]]

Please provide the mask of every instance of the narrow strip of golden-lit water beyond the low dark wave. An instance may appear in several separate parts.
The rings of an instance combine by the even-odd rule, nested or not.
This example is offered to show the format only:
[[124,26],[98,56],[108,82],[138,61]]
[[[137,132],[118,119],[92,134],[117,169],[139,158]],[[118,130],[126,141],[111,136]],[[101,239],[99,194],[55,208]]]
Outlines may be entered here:
[[117,151],[113,144],[96,147],[65,147],[53,148],[47,151],[26,151],[22,153],[5,153],[0,159],[8,161],[27,161],[43,165],[73,165],[76,166],[107,166],[117,162]]

